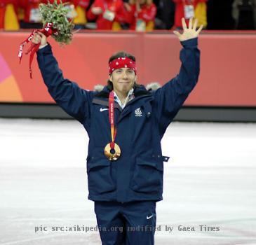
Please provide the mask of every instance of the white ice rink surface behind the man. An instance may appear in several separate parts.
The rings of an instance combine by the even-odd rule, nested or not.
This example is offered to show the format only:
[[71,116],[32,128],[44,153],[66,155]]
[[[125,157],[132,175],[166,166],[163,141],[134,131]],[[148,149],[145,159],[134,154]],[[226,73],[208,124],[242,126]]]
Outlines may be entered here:
[[[1,245],[100,245],[87,144],[74,120],[0,119]],[[162,148],[155,244],[256,244],[256,124],[172,123]]]

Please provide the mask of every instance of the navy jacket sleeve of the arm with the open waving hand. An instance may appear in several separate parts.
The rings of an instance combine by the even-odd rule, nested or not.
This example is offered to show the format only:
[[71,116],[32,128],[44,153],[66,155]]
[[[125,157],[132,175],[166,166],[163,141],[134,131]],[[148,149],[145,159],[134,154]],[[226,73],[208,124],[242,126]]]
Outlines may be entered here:
[[181,44],[183,48],[180,51],[180,61],[182,62],[180,73],[153,93],[156,102],[155,113],[162,134],[195,87],[199,76],[198,38],[182,41]]

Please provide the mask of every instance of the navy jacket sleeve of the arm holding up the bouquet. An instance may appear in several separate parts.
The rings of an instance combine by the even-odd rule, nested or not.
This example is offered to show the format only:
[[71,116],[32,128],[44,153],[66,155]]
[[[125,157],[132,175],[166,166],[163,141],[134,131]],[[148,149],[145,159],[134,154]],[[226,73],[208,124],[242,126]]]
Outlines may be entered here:
[[37,51],[37,62],[50,96],[70,116],[83,123],[90,115],[93,92],[81,89],[76,83],[63,78],[50,44]]

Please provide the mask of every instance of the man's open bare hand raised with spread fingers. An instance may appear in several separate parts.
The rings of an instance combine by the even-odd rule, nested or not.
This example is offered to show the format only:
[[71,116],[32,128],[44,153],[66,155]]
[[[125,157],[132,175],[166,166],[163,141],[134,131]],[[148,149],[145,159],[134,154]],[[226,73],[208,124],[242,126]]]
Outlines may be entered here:
[[196,19],[193,25],[193,19],[189,19],[189,28],[187,28],[187,24],[185,22],[185,19],[182,18],[182,27],[183,27],[183,33],[180,34],[179,31],[173,31],[173,33],[180,39],[180,41],[189,40],[192,38],[198,37],[200,31],[203,29],[203,25],[198,28],[196,31],[196,27],[198,24],[198,20]]

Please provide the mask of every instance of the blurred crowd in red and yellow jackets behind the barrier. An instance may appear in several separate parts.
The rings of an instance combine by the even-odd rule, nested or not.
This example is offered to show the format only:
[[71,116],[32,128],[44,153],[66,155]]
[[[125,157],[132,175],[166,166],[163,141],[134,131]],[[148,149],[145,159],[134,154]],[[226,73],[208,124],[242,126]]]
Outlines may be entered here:
[[[49,0],[53,3],[54,0]],[[39,3],[0,0],[0,29],[42,27]],[[181,19],[197,18],[205,29],[255,29],[256,0],[62,0],[75,29],[181,29]]]

